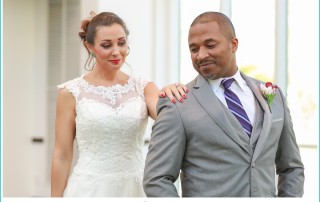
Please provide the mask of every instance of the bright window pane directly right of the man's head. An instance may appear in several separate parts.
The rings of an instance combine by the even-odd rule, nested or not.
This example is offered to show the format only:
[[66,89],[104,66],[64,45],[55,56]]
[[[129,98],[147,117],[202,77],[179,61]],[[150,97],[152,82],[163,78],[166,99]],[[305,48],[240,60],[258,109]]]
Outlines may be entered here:
[[273,82],[275,66],[274,1],[232,1],[231,6],[231,21],[239,39],[237,64],[240,70],[262,81]]

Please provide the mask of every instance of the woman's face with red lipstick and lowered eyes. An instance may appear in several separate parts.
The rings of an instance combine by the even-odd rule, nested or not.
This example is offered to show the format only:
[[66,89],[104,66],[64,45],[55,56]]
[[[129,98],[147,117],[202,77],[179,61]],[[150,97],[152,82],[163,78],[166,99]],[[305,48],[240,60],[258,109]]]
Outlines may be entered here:
[[120,69],[129,50],[123,27],[116,23],[97,27],[91,50],[95,54],[97,65],[113,70]]

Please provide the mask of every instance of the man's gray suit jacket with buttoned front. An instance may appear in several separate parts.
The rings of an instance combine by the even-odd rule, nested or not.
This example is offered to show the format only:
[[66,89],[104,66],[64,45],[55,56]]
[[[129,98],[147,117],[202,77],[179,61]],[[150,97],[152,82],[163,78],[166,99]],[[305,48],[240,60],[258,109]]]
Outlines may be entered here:
[[184,103],[159,100],[143,180],[148,197],[178,196],[179,174],[183,197],[303,195],[304,167],[284,95],[277,90],[271,113],[261,82],[241,75],[257,100],[251,139],[200,75],[187,85]]

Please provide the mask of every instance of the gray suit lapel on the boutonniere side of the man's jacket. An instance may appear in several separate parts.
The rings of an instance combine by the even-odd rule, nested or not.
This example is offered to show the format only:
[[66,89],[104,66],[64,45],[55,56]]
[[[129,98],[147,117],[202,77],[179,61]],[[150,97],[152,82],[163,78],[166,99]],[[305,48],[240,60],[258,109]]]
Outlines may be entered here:
[[272,114],[269,110],[268,104],[266,99],[263,97],[261,90],[260,90],[260,82],[244,75],[241,73],[241,76],[244,78],[244,80],[246,80],[249,88],[252,90],[254,96],[257,98],[258,102],[260,103],[263,111],[264,111],[264,115],[263,115],[263,125],[262,125],[262,130],[261,133],[259,135],[259,139],[253,154],[253,158],[252,161],[255,161],[258,156],[260,155],[263,146],[269,136],[269,132],[271,129],[271,121],[272,121]]

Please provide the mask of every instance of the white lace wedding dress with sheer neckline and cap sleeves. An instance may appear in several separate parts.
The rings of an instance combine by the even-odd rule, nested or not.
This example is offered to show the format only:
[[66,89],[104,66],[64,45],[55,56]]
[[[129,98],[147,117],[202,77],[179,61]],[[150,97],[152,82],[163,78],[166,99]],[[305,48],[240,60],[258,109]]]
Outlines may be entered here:
[[129,77],[125,85],[94,86],[81,76],[58,85],[58,89],[68,89],[76,100],[79,151],[64,197],[145,197],[142,178],[147,83]]

